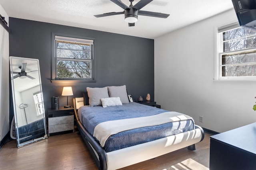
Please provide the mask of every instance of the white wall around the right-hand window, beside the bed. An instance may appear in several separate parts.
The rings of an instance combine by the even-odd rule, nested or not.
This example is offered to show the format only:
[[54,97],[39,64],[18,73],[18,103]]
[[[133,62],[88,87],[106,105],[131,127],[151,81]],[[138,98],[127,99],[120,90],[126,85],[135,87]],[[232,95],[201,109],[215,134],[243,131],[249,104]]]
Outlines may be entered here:
[[[155,39],[155,101],[195,123],[224,132],[256,122],[256,81],[214,79],[214,26],[237,20],[230,10]],[[199,122],[203,116],[203,123]]]

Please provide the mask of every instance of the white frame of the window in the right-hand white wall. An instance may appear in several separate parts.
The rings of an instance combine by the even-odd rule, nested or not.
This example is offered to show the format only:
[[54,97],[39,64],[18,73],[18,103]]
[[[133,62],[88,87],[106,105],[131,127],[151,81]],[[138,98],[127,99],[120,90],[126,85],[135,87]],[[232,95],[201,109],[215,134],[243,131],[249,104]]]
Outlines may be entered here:
[[225,54],[239,54],[239,53],[248,53],[256,51],[256,47],[249,49],[242,49],[237,51],[223,51],[223,45],[220,43],[222,41],[222,33],[231,29],[236,29],[240,27],[238,22],[226,23],[223,25],[216,25],[214,29],[214,34],[217,35],[215,38],[215,71],[214,71],[214,80],[256,80],[256,76],[232,76],[232,77],[222,77],[222,55]]

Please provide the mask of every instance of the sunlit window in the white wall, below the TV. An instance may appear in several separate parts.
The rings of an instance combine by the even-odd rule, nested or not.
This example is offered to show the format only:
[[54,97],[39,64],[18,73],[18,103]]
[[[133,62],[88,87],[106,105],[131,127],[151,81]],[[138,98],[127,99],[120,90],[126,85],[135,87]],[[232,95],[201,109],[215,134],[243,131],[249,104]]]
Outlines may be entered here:
[[256,30],[232,26],[218,32],[218,78],[256,80]]

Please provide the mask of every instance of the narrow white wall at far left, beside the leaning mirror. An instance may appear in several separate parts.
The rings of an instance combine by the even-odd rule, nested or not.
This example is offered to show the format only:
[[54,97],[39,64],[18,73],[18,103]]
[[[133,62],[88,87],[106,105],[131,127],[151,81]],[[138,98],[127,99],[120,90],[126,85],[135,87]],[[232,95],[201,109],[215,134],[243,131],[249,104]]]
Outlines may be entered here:
[[[9,17],[0,5],[0,14]],[[9,33],[0,25],[0,141],[9,131]]]

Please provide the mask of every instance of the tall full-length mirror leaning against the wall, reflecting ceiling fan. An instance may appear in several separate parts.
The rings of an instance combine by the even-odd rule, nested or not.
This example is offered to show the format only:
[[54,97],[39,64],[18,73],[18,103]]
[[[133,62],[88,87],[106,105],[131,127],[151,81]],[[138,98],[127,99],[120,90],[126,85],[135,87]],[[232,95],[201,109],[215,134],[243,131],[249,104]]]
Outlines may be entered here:
[[38,59],[10,57],[17,147],[46,139],[46,119]]

